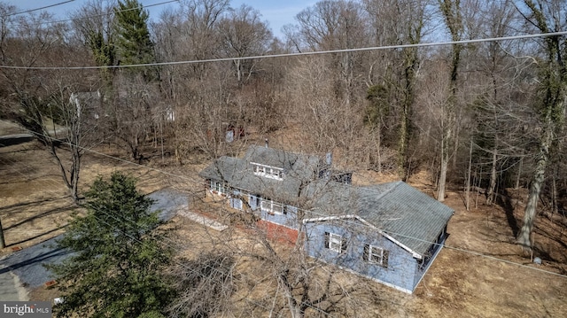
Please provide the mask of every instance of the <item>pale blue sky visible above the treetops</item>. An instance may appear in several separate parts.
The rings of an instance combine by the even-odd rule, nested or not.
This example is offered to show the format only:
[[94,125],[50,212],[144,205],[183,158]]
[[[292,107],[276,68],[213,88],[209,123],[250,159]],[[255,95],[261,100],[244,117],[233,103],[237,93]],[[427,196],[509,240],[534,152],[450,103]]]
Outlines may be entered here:
[[[144,5],[159,4],[165,1],[167,0],[138,0],[138,2]],[[0,2],[15,5],[19,11],[25,11],[50,4],[60,4],[66,2],[66,0],[0,0]],[[74,0],[45,9],[45,11],[55,14],[57,18],[66,19],[68,18],[68,13],[74,12],[85,2],[87,0]],[[267,21],[274,35],[280,38],[283,37],[282,27],[286,24],[294,24],[295,16],[315,3],[316,1],[306,0],[230,0],[230,6],[233,8],[247,4],[258,10],[262,15],[262,20]],[[159,19],[160,12],[166,8],[175,8],[175,5],[175,3],[171,3],[148,8],[150,19]]]

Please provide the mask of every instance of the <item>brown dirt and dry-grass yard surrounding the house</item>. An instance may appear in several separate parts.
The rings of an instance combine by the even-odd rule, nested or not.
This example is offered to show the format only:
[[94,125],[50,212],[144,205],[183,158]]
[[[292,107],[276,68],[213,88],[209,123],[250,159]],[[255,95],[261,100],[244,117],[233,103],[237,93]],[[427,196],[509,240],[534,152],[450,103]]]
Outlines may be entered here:
[[[104,147],[97,151],[124,155]],[[167,174],[87,153],[81,183],[84,188],[96,175],[120,169],[135,175],[146,192],[165,187],[202,191],[197,178],[202,165],[167,168],[156,163],[155,167],[167,169]],[[383,175],[366,174],[359,175],[360,179],[355,178],[355,181],[385,179]],[[17,247],[39,244],[65,230],[75,208],[66,195],[58,167],[47,151],[34,142],[0,147],[0,175],[0,220],[8,245],[0,251],[0,256]],[[417,175],[409,183],[425,192],[431,191],[431,184],[423,175]],[[532,264],[530,255],[525,255],[514,244],[522,223],[521,199],[524,196],[518,198],[510,201],[513,204],[485,206],[484,197],[480,195],[478,207],[467,212],[462,192],[449,192],[446,204],[454,208],[455,213],[449,223],[447,247],[439,253],[413,295],[347,273],[341,274],[344,275],[341,279],[368,284],[369,289],[380,293],[383,301],[375,308],[368,308],[368,316],[379,313],[384,317],[565,317],[567,221],[559,215],[538,217],[533,256],[543,261],[541,265]],[[197,237],[220,235],[182,217],[176,217],[174,222],[178,228],[177,239],[181,241],[196,242]],[[202,248],[202,244],[187,246],[189,255],[191,246]],[[34,300],[56,296],[56,290],[44,288],[30,293],[30,299]],[[243,316],[243,313],[235,314]]]

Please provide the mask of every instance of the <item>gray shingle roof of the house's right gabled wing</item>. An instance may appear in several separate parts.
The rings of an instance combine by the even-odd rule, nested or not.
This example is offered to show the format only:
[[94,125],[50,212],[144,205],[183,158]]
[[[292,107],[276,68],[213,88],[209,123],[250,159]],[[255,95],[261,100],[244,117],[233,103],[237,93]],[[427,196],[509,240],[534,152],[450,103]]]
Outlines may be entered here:
[[356,215],[408,249],[424,255],[454,211],[405,182],[354,187],[315,181],[306,196],[315,208],[307,219]]

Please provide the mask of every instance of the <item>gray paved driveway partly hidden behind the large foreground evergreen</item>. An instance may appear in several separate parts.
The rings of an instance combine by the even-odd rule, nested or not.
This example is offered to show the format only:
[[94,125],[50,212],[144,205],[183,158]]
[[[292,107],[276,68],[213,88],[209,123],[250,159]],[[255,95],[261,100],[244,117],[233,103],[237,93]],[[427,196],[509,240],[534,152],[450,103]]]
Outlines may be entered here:
[[[159,190],[148,197],[156,200],[151,210],[160,210],[161,221],[170,220],[179,209],[188,205],[187,196],[175,190]],[[53,279],[43,264],[58,263],[70,255],[65,250],[55,248],[57,239],[53,237],[0,260],[0,300],[27,300],[22,293],[22,285],[33,289]],[[16,280],[14,275],[17,276]]]

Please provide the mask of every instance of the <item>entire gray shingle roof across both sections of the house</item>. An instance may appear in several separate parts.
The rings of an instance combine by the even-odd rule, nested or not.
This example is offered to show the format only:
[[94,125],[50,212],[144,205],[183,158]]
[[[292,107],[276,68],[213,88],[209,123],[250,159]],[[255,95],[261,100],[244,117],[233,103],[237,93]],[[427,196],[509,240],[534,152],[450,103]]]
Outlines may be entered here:
[[[250,162],[283,167],[283,180],[253,174]],[[424,255],[454,211],[405,182],[355,187],[317,179],[318,157],[252,146],[243,159],[221,157],[199,174],[283,203],[311,209],[306,219],[356,215]]]

